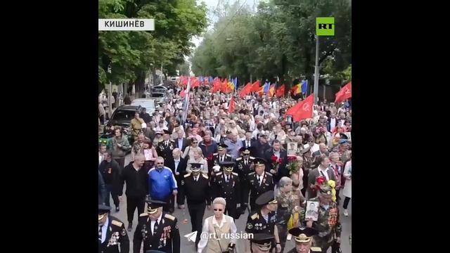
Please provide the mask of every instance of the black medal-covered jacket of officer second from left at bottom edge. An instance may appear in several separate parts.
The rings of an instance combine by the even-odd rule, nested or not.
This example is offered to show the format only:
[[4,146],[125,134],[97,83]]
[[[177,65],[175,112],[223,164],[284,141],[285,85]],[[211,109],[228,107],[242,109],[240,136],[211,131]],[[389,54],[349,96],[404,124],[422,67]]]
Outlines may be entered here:
[[[180,253],[180,233],[176,226],[176,217],[162,212],[161,221],[155,235],[150,228],[151,220],[147,213],[139,216],[139,224],[136,226],[133,238],[133,252],[141,252],[141,242],[143,241],[143,251],[160,250],[167,253]],[[169,230],[167,230],[169,227]],[[164,236],[165,229],[170,231]],[[165,238],[165,240],[160,240]]]

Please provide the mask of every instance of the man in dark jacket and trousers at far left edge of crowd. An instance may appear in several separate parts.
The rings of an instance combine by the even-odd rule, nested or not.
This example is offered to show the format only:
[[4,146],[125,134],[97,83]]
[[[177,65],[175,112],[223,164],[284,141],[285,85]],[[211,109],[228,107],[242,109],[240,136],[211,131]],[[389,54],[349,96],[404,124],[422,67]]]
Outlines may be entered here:
[[113,197],[115,205],[115,212],[120,211],[119,197],[117,196],[117,193],[119,193],[120,190],[120,170],[121,169],[119,164],[115,160],[113,160],[113,153],[111,151],[106,152],[105,160],[101,162],[100,166],[98,167],[98,171],[100,171],[101,175],[103,176],[103,180],[105,181],[107,192],[105,205],[110,207],[111,195],[111,197]]

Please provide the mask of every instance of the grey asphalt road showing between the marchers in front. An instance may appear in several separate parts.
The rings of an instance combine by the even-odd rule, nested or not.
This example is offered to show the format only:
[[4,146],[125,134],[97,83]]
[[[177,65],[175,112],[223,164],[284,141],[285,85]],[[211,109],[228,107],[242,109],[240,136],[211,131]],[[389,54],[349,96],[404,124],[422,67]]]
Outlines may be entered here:
[[[125,159],[125,164],[128,164],[130,162],[130,155],[128,155]],[[125,192],[125,189],[124,189]],[[117,217],[118,219],[120,219],[121,221],[124,222],[125,226],[128,226],[128,221],[127,221],[127,200],[126,200],[126,195],[124,194],[122,199],[122,202],[120,202],[120,212],[115,212],[114,210],[111,212],[111,214],[115,217]],[[341,195],[342,197],[342,195]],[[343,202],[344,197],[342,197],[342,201],[340,203],[340,207],[342,209],[342,202]],[[113,204],[113,199],[110,198],[110,203],[112,205],[112,209],[114,209],[114,204]],[[187,235],[188,233],[191,233],[191,221],[189,219],[189,212],[187,209],[187,205],[186,209],[178,209],[175,207],[175,212],[174,212],[174,216],[176,216],[176,218],[178,219],[178,226],[179,226],[179,231],[180,231],[180,237],[181,237],[181,253],[195,253],[195,247],[193,242],[188,242],[188,239],[184,237],[184,235]],[[342,235],[341,235],[341,249],[343,253],[350,253],[352,252],[352,247],[349,245],[349,235],[352,231],[352,203],[349,204],[349,216],[346,217],[342,214],[342,211],[340,213],[340,221],[342,223]],[[133,222],[133,231],[129,232],[129,240],[130,240],[130,252],[131,253],[136,253],[133,252],[133,235],[134,235],[134,231],[136,230],[136,225],[137,225],[137,209],[134,213],[134,222]],[[205,216],[204,219],[207,218],[208,216],[212,216],[213,212],[212,210],[205,210]],[[245,223],[247,222],[247,218],[248,218],[248,211],[245,212],[245,214],[241,215],[240,218],[238,220],[236,220],[236,226],[238,228],[238,233],[240,231],[243,231],[243,233],[245,233]],[[183,223],[184,219],[188,219],[187,223]],[[200,236],[199,234],[197,236]],[[244,252],[244,242],[243,240],[239,239],[237,242],[237,250],[236,252],[238,253],[243,253]],[[293,240],[288,241],[286,243],[286,248],[284,250],[284,252],[288,252],[288,250],[292,249],[293,247],[295,247],[295,243],[293,242]],[[141,252],[142,252],[142,247],[141,247]],[[331,252],[331,249],[328,249],[328,253]]]

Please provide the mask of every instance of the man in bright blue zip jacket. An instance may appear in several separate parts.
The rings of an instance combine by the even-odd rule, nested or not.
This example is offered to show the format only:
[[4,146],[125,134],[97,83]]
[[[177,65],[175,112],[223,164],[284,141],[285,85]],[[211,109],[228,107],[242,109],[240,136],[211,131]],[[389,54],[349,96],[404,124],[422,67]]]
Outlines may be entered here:
[[148,171],[148,193],[152,200],[166,202],[164,212],[173,213],[170,201],[178,194],[178,184],[172,170],[164,166],[164,158],[156,159],[155,167]]

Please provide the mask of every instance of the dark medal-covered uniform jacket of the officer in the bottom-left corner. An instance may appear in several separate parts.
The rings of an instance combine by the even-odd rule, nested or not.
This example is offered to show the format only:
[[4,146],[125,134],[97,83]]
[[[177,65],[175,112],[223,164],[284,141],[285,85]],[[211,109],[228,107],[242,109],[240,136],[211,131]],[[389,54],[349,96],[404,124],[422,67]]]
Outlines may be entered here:
[[[98,240],[98,253],[119,253],[119,247],[121,253],[128,253],[129,239],[124,223],[114,216],[108,215],[108,224],[103,226],[107,226],[106,238],[103,243]],[[120,242],[120,246],[117,242]]]

